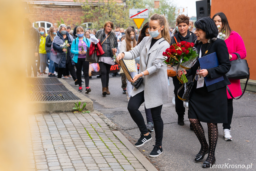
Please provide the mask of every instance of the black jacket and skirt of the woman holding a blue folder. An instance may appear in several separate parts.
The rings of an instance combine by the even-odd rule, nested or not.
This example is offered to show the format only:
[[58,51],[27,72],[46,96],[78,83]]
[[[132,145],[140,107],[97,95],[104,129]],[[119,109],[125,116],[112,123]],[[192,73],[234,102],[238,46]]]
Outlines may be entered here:
[[[228,98],[226,85],[230,84],[230,82],[225,74],[230,70],[231,67],[228,48],[224,40],[216,40],[216,38],[214,38],[211,42],[212,43],[208,48],[207,54],[216,52],[219,66],[207,68],[209,72],[208,77],[217,78],[223,76],[224,80],[207,87],[204,82],[204,86],[198,89],[196,88],[197,81],[195,80],[192,96],[189,101],[188,116],[190,119],[198,119],[199,121],[206,123],[227,123]],[[202,46],[202,43],[198,43],[195,45],[195,47],[198,48],[199,52],[202,46],[203,54],[207,50],[207,44]],[[199,62],[197,61],[192,68],[187,70],[187,75],[193,75],[194,78],[196,70],[199,66]]]

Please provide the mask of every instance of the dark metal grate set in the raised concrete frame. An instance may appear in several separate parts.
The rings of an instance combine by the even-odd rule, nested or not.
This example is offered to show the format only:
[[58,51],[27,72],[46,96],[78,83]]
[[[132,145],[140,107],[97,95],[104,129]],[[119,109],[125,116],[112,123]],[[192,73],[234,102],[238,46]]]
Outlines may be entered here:
[[28,101],[81,100],[56,77],[28,78],[27,94]]

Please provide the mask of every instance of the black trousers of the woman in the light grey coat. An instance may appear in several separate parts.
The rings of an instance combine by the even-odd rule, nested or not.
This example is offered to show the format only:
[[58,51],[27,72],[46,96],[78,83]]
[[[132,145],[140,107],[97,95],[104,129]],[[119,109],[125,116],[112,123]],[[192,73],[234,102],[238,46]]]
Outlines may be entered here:
[[[131,96],[127,109],[133,121],[138,125],[140,132],[142,134],[147,134],[148,130],[145,125],[144,118],[139,111],[139,107],[144,101],[144,91],[142,91],[133,97]],[[162,146],[163,140],[163,120],[161,118],[162,106],[163,105],[150,109],[155,127],[155,145],[157,146]]]

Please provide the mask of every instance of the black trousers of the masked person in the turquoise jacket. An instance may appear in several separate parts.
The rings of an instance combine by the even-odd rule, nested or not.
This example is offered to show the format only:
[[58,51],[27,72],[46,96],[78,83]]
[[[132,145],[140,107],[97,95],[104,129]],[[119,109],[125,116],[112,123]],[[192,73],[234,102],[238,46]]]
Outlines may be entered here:
[[78,58],[76,63],[77,68],[77,81],[79,86],[82,86],[82,68],[85,76],[85,87],[89,87],[89,65],[85,58]]

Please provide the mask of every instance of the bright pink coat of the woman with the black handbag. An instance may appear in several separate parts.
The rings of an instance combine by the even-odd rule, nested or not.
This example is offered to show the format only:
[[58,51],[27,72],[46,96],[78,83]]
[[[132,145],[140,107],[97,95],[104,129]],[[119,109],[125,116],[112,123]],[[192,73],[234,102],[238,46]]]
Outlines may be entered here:
[[[237,59],[236,54],[232,54],[235,52],[240,54],[241,59],[244,59],[246,57],[246,49],[244,46],[244,41],[237,32],[232,31],[228,39],[225,40],[225,43],[228,47],[228,53],[232,55],[232,59],[230,59],[230,61]],[[233,97],[240,96],[242,94],[240,80],[229,80],[229,81],[231,84],[228,85],[228,88],[230,89]],[[232,98],[229,95],[228,90],[227,90],[227,95],[228,95],[228,99]]]

